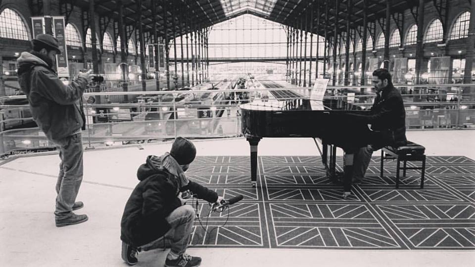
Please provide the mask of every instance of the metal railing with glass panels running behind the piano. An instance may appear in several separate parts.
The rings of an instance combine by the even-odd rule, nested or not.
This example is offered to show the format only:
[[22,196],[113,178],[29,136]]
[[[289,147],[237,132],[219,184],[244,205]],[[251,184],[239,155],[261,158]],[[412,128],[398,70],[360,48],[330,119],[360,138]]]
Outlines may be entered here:
[[[452,84],[430,85],[447,96]],[[201,86],[206,87],[206,86]],[[403,89],[404,86],[396,86]],[[426,88],[427,85],[411,85]],[[339,98],[363,108],[369,108],[374,93],[358,95],[361,89],[370,86],[329,86],[326,98]],[[474,84],[458,84],[457,88],[475,88]],[[234,89],[234,90],[191,90],[191,91],[147,91],[147,92],[97,92],[85,93],[91,96],[143,95],[158,96],[152,103],[110,103],[88,104],[84,102],[87,117],[83,142],[86,147],[115,146],[173,139],[176,136],[189,138],[219,138],[240,136],[239,105],[259,98],[261,92],[292,90],[303,96],[310,94],[311,87]],[[450,90],[450,89],[449,89]],[[348,93],[354,92],[352,96]],[[193,94],[187,102],[176,101],[181,94]],[[213,101],[203,101],[203,94],[221,94]],[[408,129],[450,129],[471,128],[475,125],[475,101],[470,94],[458,90],[457,101],[425,101],[430,93],[403,94],[406,106]],[[171,98],[166,100],[167,96]],[[211,95],[210,95],[211,96]],[[25,96],[0,98],[0,155],[22,154],[54,149],[54,144],[37,127],[28,127],[32,122],[28,105],[4,105],[9,100],[24,100]],[[209,97],[207,100],[211,100]],[[422,99],[422,101],[420,101]],[[161,100],[161,101],[160,101]],[[98,110],[104,109],[100,113]],[[13,114],[13,115],[12,115]],[[15,117],[16,116],[16,117]],[[26,128],[25,128],[26,127]]]

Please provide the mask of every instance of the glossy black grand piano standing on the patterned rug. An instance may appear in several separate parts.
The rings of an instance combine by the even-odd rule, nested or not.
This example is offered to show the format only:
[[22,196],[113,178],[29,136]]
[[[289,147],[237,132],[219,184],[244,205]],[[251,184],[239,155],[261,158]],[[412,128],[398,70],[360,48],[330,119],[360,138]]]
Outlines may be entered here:
[[[305,90],[309,93],[300,93]],[[256,186],[257,146],[262,138],[311,137],[322,141],[322,162],[329,178],[335,176],[336,147],[345,152],[345,161],[351,160],[345,162],[343,178],[344,191],[350,191],[353,153],[370,143],[371,131],[349,114],[369,111],[341,98],[314,99],[309,89],[271,89],[262,95],[266,97],[240,106],[241,132],[250,145],[252,186]]]

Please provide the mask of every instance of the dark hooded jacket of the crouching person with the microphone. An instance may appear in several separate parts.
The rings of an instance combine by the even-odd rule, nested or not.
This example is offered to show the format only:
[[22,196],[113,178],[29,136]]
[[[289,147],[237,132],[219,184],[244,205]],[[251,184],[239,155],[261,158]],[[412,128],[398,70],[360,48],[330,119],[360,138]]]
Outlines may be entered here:
[[[166,217],[182,205],[178,178],[166,169],[160,169],[160,157],[148,156],[138,171],[139,184],[132,192],[120,224],[120,239],[140,247],[165,235],[171,226]],[[199,199],[213,203],[218,194],[193,181],[188,189]]]

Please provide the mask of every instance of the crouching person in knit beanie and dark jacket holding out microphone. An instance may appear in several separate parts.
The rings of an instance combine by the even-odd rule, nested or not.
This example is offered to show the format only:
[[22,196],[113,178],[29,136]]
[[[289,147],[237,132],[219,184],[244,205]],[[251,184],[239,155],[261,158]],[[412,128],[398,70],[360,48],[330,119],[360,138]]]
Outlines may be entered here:
[[185,176],[196,156],[189,140],[177,137],[170,153],[148,156],[140,165],[135,187],[121,221],[122,259],[138,263],[138,252],[171,248],[165,267],[199,266],[201,258],[186,254],[195,212],[186,204],[184,193],[191,191],[199,199],[219,204],[222,197]]

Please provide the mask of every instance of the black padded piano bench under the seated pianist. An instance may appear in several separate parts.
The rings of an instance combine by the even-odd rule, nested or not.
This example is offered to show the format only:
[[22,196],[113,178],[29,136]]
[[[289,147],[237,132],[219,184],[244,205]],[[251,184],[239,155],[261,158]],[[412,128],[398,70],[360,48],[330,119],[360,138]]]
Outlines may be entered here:
[[[426,148],[419,144],[416,144],[411,141],[407,141],[405,146],[393,148],[391,146],[386,146],[381,149],[381,174],[382,178],[384,172],[384,160],[392,159],[397,160],[396,165],[396,188],[399,188],[399,171],[402,169],[402,176],[406,177],[406,170],[416,169],[421,170],[421,189],[424,188],[424,176],[426,174],[426,155],[424,154]],[[401,161],[403,162],[403,167],[401,167]],[[407,161],[422,161],[422,166],[420,167],[408,167]]]

